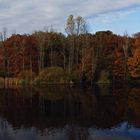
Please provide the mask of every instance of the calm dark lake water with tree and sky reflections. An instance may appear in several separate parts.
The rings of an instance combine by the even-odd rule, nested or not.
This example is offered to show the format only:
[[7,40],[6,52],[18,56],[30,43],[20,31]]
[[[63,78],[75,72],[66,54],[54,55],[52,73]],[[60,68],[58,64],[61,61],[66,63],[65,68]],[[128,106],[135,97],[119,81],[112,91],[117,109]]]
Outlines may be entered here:
[[140,88],[1,88],[0,140],[140,140]]

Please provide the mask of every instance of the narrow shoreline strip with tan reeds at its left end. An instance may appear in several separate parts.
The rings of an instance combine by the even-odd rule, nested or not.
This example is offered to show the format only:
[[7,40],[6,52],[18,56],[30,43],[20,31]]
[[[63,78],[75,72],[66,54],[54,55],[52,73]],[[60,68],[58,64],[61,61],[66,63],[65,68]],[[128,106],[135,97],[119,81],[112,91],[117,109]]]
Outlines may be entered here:
[[11,86],[25,86],[25,87],[44,87],[44,86],[68,86],[68,87],[89,87],[89,86],[94,86],[94,85],[119,85],[119,84],[124,84],[124,85],[140,85],[140,80],[127,80],[127,81],[115,81],[115,82],[102,82],[102,83],[98,83],[98,82],[94,82],[93,85],[91,85],[90,82],[64,82],[64,83],[49,83],[49,82],[44,82],[44,81],[40,81],[39,83],[35,83],[34,80],[32,81],[26,81],[25,79],[19,79],[17,77],[14,78],[2,78],[0,77],[0,86],[3,87],[11,87]]

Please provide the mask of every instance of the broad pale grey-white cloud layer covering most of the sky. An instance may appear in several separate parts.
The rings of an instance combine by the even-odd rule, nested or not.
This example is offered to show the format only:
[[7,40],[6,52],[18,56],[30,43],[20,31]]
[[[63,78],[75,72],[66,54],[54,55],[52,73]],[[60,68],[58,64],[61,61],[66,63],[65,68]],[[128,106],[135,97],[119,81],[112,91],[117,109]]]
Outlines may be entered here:
[[0,0],[0,28],[30,33],[54,25],[62,31],[70,14],[107,22],[139,6],[140,0]]

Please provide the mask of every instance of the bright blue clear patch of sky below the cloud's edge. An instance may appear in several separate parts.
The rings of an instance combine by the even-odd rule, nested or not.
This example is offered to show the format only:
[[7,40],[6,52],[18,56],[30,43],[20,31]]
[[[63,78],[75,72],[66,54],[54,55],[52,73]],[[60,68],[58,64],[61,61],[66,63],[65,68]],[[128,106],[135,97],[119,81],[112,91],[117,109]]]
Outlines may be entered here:
[[[91,23],[91,31],[96,32],[99,30],[111,30],[114,33],[123,35],[127,32],[129,35],[132,35],[136,32],[140,32],[140,8],[136,8],[135,10],[128,10],[130,13],[126,13],[126,11],[121,11],[122,15],[120,16],[108,16],[107,19],[105,17],[104,21],[99,19],[93,20]],[[114,13],[115,14],[115,13]],[[123,15],[124,14],[124,15]]]

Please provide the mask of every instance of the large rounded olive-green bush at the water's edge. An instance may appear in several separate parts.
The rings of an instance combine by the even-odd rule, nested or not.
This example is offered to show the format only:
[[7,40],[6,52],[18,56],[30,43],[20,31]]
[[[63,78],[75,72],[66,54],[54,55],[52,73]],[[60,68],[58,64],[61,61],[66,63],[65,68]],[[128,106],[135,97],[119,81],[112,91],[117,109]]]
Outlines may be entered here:
[[35,79],[35,84],[64,84],[66,75],[61,67],[49,67],[42,70]]

